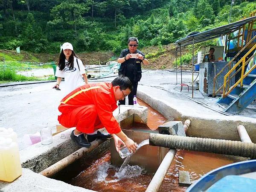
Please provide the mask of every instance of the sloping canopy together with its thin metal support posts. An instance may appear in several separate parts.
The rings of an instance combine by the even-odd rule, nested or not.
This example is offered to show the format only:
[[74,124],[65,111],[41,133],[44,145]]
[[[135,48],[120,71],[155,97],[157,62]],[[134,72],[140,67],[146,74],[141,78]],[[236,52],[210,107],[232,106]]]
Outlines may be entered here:
[[234,32],[239,30],[239,27],[249,23],[250,21],[256,20],[256,15],[253,17],[249,17],[243,20],[236,21],[234,23],[230,23],[224,26],[220,26],[214,29],[210,29],[204,32],[200,32],[194,35],[187,36],[185,38],[181,38],[175,42],[176,47],[176,84],[177,84],[177,49],[180,48],[180,76],[181,76],[181,84],[182,84],[182,66],[181,66],[181,47],[186,47],[188,45],[193,45],[193,55],[192,55],[192,98],[194,97],[194,44],[200,43],[202,41],[207,41],[210,39],[215,39],[226,35],[230,32]]

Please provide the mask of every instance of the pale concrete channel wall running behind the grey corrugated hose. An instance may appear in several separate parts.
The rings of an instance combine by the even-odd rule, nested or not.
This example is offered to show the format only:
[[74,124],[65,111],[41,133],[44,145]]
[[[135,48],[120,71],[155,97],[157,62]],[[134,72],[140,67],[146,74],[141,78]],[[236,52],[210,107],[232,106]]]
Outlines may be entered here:
[[[212,111],[212,115],[204,114],[202,108],[184,107],[179,102],[158,99],[150,96],[145,92],[137,92],[137,96],[150,105],[152,108],[163,114],[166,118],[173,116],[175,120],[185,122],[186,119],[191,120],[191,124],[187,131],[187,136],[204,137],[225,140],[240,140],[236,131],[237,125],[244,125],[253,143],[256,143],[256,119],[243,116],[225,116]],[[191,101],[192,102],[192,101]],[[192,105],[194,105],[192,103]]]

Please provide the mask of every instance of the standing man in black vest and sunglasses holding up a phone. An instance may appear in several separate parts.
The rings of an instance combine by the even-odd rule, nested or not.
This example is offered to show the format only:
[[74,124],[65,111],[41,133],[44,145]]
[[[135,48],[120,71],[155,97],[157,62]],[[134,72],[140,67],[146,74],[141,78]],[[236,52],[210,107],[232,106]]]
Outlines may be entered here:
[[[128,39],[128,49],[123,49],[117,59],[117,62],[121,63],[118,74],[127,76],[133,86],[133,90],[128,95],[129,105],[133,105],[133,98],[137,94],[138,81],[141,79],[141,62],[145,65],[148,64],[144,53],[137,50],[138,44],[137,38],[130,37]],[[125,99],[119,101],[119,103],[125,105]]]

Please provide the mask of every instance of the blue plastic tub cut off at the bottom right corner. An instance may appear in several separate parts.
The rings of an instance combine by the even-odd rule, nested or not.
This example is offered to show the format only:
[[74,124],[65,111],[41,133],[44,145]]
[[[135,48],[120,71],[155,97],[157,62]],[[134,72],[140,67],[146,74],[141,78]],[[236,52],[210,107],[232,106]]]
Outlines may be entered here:
[[214,169],[195,181],[186,192],[255,192],[256,160]]

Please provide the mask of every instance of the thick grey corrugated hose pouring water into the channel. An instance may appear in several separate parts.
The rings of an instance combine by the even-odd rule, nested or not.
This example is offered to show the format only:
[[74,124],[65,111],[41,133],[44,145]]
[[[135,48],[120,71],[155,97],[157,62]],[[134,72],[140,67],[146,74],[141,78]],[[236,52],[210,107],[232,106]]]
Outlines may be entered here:
[[149,145],[256,158],[256,144],[241,141],[150,134]]

